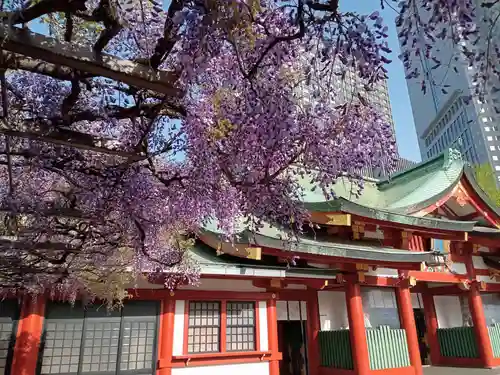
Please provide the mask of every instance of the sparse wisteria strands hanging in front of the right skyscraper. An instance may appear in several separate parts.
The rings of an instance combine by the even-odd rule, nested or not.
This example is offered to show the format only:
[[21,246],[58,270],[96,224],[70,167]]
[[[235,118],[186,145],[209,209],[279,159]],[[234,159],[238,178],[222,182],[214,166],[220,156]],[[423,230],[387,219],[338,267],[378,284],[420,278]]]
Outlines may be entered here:
[[[453,73],[466,66],[473,96],[483,104],[489,101],[499,114],[500,1],[409,0],[398,5],[396,25],[406,78],[418,79],[424,92],[434,85],[447,94],[446,78],[453,79]],[[450,54],[450,48],[458,52]],[[422,64],[422,57],[432,65]],[[439,70],[444,74],[437,80],[434,72]]]

